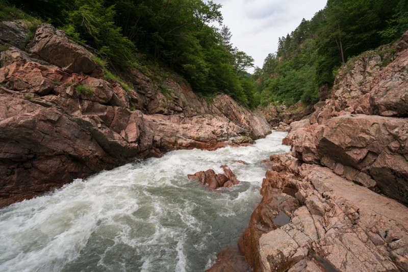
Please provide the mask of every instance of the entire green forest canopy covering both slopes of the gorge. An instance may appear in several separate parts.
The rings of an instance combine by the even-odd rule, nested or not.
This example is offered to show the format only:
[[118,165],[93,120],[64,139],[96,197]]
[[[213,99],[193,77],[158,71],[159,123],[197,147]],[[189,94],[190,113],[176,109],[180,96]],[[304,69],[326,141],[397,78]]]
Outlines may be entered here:
[[[221,5],[201,0],[0,0],[65,30],[110,68],[156,63],[194,92],[224,93],[250,107],[318,101],[348,59],[398,39],[408,0],[328,0],[311,20],[278,39],[262,68],[231,43]],[[1,17],[1,12],[0,12]],[[222,25],[220,29],[213,25]],[[93,49],[92,49],[93,48]]]

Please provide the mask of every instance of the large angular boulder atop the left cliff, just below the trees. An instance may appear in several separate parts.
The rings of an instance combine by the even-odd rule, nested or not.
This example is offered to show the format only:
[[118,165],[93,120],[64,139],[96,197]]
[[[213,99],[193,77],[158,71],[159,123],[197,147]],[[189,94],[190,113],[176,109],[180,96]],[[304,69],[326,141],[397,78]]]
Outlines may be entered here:
[[38,26],[29,49],[69,73],[89,74],[98,68],[89,51],[69,41],[62,31],[57,31],[50,24]]

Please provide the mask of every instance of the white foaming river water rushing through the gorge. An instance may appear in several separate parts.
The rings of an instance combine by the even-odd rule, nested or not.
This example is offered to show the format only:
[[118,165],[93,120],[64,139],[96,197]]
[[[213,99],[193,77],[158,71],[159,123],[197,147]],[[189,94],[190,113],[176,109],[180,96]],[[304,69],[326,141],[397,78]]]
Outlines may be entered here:
[[[289,151],[285,135],[172,151],[2,209],[0,271],[203,271],[248,225],[261,198],[262,160]],[[222,173],[224,164],[239,185],[210,191],[187,179],[210,168]]]

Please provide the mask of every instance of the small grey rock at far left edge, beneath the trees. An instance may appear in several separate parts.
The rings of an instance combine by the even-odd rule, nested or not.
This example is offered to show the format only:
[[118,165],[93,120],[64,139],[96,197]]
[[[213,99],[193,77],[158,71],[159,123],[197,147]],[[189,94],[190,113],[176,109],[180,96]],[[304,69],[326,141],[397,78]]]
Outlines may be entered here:
[[27,45],[28,26],[23,20],[3,21],[0,23],[0,40],[13,44],[20,49]]

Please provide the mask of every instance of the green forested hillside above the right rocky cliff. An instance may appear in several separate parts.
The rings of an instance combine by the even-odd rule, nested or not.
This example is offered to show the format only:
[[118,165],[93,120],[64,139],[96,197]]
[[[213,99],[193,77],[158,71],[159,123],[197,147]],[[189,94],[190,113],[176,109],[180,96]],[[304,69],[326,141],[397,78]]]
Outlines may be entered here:
[[407,29],[405,0],[328,0],[311,20],[303,19],[279,38],[277,52],[256,69],[261,105],[318,101],[318,88],[330,87],[348,59],[400,38]]

